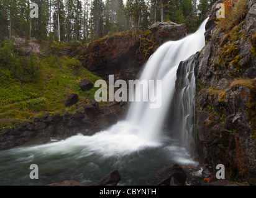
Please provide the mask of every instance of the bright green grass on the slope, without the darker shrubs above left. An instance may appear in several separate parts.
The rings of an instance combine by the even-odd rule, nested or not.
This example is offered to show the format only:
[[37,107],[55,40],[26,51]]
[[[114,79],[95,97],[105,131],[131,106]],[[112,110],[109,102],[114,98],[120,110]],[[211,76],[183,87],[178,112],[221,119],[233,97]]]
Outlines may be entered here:
[[[29,82],[22,82],[12,75],[0,75],[0,130],[17,123],[34,121],[37,117],[42,118],[43,112],[65,114],[82,111],[83,103],[94,99],[98,88],[83,92],[78,85],[83,79],[94,83],[101,78],[81,67],[79,59],[59,53],[34,56],[38,74]],[[8,69],[0,67],[0,72],[8,74]],[[68,93],[78,94],[80,101],[65,107]]]

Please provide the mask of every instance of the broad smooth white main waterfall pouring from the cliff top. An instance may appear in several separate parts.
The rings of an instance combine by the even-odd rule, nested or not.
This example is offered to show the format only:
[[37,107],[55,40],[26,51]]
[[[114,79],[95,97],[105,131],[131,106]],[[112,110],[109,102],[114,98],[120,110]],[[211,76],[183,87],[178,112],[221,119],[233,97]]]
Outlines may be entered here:
[[[178,65],[181,61],[185,61],[200,51],[205,45],[206,22],[207,20],[203,22],[197,32],[188,35],[188,37],[178,41],[168,41],[160,46],[147,62],[140,80],[162,80],[162,106],[158,109],[152,109],[150,103],[134,102],[127,114],[127,121],[139,127],[140,136],[143,136],[144,139],[154,141],[159,139],[163,121],[165,121],[175,93]],[[184,69],[187,70],[188,68]],[[190,75],[191,70],[188,69],[186,74]],[[190,87],[190,82],[187,82],[186,86]]]

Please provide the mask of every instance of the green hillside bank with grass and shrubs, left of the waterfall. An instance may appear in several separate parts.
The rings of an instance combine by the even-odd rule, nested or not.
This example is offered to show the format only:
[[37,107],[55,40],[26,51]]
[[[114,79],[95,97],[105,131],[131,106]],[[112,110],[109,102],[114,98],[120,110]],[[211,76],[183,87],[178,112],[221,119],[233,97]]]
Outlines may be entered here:
[[[83,111],[83,103],[94,98],[95,88],[82,92],[83,79],[95,82],[100,77],[81,67],[81,46],[45,43],[40,52],[24,51],[14,42],[0,43],[0,130],[16,123],[34,121],[47,114]],[[68,93],[80,101],[65,107]]]

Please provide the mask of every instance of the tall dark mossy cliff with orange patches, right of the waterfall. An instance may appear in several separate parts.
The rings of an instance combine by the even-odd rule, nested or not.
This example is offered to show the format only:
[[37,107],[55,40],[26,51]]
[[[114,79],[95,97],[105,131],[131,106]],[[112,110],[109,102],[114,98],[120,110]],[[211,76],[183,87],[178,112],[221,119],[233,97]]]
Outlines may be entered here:
[[195,66],[196,134],[205,163],[221,163],[226,178],[255,184],[256,1],[236,2],[235,17],[218,22],[214,4],[206,24]]

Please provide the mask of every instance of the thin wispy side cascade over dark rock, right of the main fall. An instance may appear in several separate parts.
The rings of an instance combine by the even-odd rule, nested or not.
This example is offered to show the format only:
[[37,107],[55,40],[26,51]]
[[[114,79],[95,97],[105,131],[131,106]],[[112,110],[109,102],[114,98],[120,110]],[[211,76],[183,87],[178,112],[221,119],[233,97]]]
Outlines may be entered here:
[[173,97],[170,123],[173,131],[180,133],[181,144],[194,153],[194,129],[196,106],[196,79],[194,64],[198,54],[182,61],[177,70],[176,92]]

